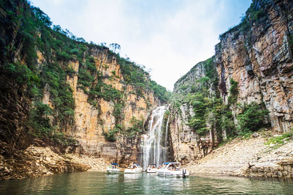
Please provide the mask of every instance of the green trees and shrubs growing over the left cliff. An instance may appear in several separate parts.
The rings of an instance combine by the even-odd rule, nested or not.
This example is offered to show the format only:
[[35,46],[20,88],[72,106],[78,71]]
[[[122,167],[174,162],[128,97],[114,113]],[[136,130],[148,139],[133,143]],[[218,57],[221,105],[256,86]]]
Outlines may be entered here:
[[[60,137],[67,129],[73,128],[75,103],[67,76],[78,76],[78,88],[88,94],[87,101],[98,110],[101,98],[114,103],[116,126],[112,132],[108,131],[107,137],[113,137],[112,134],[118,131],[125,132],[127,136],[133,136],[134,131],[142,131],[141,120],[138,119],[132,119],[132,126],[128,129],[120,124],[125,94],[103,82],[106,75],[97,70],[96,59],[92,55],[95,49],[108,51],[111,58],[117,59],[125,85],[132,85],[138,96],[143,97],[146,90],[150,90],[162,102],[168,100],[170,92],[151,81],[144,66],[115,53],[120,49],[119,45],[111,45],[115,48],[112,52],[104,45],[87,43],[68,30],[52,25],[45,13],[25,0],[1,1],[0,8],[3,11],[1,28],[7,35],[1,36],[0,40],[3,46],[0,74],[15,82],[19,93],[27,97],[31,108],[26,126],[34,136]],[[78,71],[71,66],[74,63],[79,64]],[[119,79],[119,76],[113,73],[110,79]],[[44,94],[49,94],[50,106],[42,103]],[[61,137],[58,139],[63,140]]]

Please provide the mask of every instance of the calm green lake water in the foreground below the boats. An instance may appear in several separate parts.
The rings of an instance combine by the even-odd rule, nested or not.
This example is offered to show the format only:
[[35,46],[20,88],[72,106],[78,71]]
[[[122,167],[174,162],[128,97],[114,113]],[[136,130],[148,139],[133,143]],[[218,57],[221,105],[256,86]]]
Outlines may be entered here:
[[293,180],[76,172],[0,181],[0,194],[293,194]]

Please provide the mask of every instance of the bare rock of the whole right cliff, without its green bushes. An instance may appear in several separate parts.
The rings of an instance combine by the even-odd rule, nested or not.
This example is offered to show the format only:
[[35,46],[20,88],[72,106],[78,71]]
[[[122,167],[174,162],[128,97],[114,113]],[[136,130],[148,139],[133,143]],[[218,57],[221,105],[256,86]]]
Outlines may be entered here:
[[[242,22],[220,35],[212,58],[217,78],[215,85],[209,84],[208,91],[209,97],[218,93],[216,96],[222,98],[235,125],[240,112],[236,105],[256,102],[269,111],[266,123],[274,131],[284,133],[292,129],[292,13],[292,1],[253,1]],[[187,125],[195,113],[186,97],[200,91],[200,79],[207,77],[204,63],[195,65],[174,84],[170,141],[175,160],[183,163],[202,158],[219,140],[227,138],[222,126],[213,126],[209,121],[208,131],[201,136]],[[237,95],[231,93],[231,79],[237,82]],[[234,103],[228,101],[229,96],[235,96]]]

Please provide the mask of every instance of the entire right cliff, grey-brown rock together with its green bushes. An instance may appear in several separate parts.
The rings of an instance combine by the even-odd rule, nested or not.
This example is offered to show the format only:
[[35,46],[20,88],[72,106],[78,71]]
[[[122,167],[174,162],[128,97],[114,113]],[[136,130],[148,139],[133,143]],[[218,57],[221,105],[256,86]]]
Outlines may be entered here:
[[219,143],[264,127],[292,129],[292,13],[292,1],[253,1],[241,23],[220,35],[215,56],[174,84],[175,160],[199,160]]

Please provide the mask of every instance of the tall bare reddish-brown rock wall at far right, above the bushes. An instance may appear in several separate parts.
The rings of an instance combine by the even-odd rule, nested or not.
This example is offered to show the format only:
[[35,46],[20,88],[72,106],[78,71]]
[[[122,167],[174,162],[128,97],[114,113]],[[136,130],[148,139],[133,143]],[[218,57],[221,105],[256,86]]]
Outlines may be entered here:
[[254,1],[243,22],[220,36],[215,55],[224,101],[233,78],[237,103],[264,102],[279,132],[293,119],[292,10],[292,1]]

